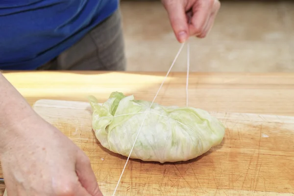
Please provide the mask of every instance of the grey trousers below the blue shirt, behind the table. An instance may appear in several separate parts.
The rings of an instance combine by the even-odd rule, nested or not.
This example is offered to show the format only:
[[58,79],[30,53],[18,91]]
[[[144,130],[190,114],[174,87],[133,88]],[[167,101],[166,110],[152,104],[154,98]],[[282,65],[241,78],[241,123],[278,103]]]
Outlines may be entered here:
[[38,70],[125,71],[125,67],[121,13],[117,10]]

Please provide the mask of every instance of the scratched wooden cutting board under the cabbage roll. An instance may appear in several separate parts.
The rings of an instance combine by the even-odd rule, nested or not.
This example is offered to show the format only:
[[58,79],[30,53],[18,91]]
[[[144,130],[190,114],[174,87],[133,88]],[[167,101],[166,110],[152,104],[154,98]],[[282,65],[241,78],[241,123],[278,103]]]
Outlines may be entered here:
[[[86,152],[104,196],[111,196],[126,157],[103,148],[87,102],[38,100],[35,111]],[[128,162],[116,196],[294,196],[294,117],[211,113],[223,142],[181,163]]]

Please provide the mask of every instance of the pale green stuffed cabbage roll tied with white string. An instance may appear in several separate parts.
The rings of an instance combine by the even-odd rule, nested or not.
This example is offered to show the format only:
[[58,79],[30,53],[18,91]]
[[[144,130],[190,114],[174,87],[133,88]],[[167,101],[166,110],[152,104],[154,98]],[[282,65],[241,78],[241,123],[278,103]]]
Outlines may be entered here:
[[130,158],[160,163],[187,161],[220,145],[225,134],[223,124],[202,109],[153,103],[148,110],[151,102],[119,92],[113,92],[102,104],[93,96],[89,100],[98,141],[126,157],[145,116]]

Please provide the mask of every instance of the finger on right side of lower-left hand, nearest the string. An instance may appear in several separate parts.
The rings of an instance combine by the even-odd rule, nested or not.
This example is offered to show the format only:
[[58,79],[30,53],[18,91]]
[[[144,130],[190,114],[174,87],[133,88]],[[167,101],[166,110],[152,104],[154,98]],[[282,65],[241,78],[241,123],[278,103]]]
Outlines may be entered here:
[[81,155],[81,158],[77,160],[76,173],[82,187],[84,187],[91,196],[103,196],[92,170],[90,160],[86,155]]

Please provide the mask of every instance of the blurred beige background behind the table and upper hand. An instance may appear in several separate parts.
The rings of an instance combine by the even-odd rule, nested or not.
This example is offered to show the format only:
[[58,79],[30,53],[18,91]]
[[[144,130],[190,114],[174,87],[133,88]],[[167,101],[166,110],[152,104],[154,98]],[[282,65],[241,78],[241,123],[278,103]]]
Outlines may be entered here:
[[[127,71],[167,72],[180,47],[160,0],[121,0]],[[221,0],[210,34],[191,38],[191,71],[294,71],[294,1]],[[184,48],[173,72],[186,72]]]

